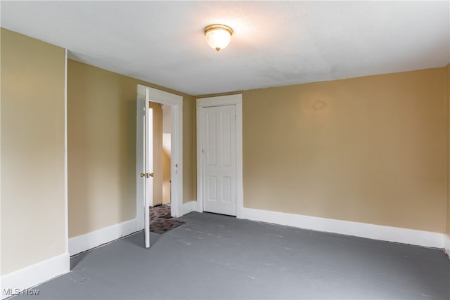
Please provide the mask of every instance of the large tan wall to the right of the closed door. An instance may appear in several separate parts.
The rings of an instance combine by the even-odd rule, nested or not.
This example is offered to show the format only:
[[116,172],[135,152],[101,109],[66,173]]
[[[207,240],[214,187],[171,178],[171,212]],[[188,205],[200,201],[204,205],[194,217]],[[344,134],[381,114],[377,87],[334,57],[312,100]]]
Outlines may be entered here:
[[443,233],[444,72],[244,91],[244,206]]

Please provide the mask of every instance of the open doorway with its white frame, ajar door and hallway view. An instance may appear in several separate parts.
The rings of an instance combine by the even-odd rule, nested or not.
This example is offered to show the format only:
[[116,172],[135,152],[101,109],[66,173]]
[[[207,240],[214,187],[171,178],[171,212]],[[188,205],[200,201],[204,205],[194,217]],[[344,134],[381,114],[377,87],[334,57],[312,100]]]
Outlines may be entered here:
[[146,247],[150,247],[150,207],[166,202],[171,216],[182,215],[183,97],[141,84],[137,95],[136,216],[138,229],[145,230]]

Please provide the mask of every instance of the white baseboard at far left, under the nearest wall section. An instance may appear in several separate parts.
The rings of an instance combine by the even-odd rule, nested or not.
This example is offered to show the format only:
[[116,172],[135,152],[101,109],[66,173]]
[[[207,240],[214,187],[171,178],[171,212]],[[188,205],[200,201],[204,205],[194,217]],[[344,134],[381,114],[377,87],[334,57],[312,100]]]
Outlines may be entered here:
[[1,299],[13,296],[23,290],[30,289],[30,287],[51,280],[51,278],[68,273],[69,270],[70,255],[66,252],[3,275],[0,280]]

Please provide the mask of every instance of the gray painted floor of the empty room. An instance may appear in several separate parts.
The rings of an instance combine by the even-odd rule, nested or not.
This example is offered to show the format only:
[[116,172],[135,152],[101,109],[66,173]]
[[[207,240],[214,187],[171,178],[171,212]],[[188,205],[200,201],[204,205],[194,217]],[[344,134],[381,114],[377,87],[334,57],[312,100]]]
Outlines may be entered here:
[[71,259],[18,299],[450,299],[439,249],[191,213]]

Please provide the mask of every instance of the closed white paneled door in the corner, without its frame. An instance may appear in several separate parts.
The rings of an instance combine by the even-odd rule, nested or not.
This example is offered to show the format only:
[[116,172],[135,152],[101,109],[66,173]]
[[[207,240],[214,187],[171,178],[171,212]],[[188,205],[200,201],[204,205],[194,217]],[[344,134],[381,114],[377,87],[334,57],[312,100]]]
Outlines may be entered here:
[[236,106],[205,107],[203,210],[236,216]]

